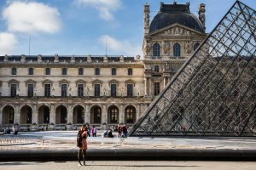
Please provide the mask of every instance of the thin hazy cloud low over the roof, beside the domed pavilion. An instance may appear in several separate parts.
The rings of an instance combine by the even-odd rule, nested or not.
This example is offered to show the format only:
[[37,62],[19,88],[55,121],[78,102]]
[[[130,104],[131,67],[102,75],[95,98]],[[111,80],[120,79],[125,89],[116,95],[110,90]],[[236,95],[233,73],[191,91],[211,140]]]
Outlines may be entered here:
[[112,53],[135,56],[137,54],[142,54],[141,46],[136,46],[128,41],[119,41],[111,36],[102,36],[99,38],[102,46],[106,45],[107,38],[107,48],[110,49]]

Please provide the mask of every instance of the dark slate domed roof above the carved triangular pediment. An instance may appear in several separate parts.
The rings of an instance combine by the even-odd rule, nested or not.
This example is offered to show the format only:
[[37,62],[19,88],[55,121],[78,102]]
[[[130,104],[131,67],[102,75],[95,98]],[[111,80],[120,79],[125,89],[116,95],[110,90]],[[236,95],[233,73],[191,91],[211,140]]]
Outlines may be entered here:
[[160,4],[160,12],[154,16],[149,28],[149,32],[160,30],[172,24],[187,26],[195,31],[204,33],[204,26],[201,21],[190,13],[189,3],[187,4]]

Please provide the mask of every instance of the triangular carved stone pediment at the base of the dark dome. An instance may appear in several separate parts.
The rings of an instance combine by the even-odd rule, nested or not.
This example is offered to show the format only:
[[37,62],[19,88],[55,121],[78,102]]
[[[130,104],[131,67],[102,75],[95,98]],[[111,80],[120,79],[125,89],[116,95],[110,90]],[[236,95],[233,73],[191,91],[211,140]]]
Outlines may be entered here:
[[150,36],[186,36],[186,35],[204,35],[200,31],[195,31],[189,27],[181,26],[179,24],[175,24],[172,26],[167,26],[158,31],[152,32]]

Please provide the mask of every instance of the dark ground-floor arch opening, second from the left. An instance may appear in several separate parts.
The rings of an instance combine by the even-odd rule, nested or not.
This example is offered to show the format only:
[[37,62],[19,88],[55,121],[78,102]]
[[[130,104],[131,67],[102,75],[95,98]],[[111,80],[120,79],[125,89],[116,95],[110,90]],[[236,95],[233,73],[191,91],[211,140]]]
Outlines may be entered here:
[[22,105],[20,107],[20,124],[32,124],[32,106]]

